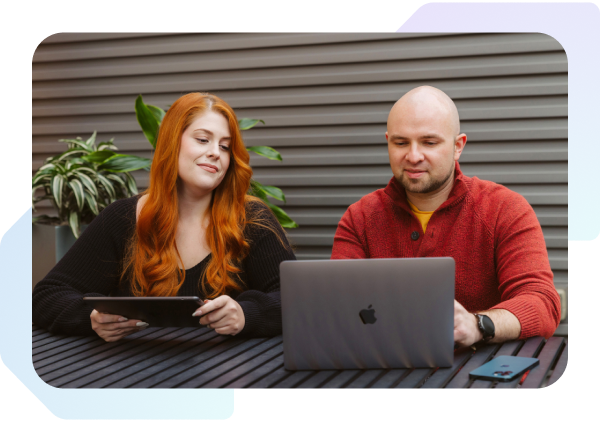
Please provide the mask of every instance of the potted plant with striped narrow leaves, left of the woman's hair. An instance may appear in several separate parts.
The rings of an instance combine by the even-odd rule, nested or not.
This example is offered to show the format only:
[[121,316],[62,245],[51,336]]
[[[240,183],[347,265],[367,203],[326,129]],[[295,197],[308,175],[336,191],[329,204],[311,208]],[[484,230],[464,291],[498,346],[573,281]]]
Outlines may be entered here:
[[[48,200],[57,216],[39,215],[33,223],[55,225],[58,262],[102,209],[138,190],[129,172],[148,169],[151,160],[116,151],[114,139],[96,145],[96,132],[84,141],[60,139],[66,152],[46,159],[31,180],[31,204]],[[43,190],[42,195],[36,192]]]

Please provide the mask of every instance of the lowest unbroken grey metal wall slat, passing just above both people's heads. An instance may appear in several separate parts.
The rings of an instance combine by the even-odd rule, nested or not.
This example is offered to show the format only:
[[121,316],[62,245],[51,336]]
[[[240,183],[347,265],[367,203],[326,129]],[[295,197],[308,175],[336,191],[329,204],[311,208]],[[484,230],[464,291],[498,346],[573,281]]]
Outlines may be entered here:
[[177,75],[131,75],[33,81],[32,99],[138,95],[291,87],[351,83],[430,81],[567,72],[564,52],[518,55],[486,55],[451,59],[384,61],[318,66],[188,72]]

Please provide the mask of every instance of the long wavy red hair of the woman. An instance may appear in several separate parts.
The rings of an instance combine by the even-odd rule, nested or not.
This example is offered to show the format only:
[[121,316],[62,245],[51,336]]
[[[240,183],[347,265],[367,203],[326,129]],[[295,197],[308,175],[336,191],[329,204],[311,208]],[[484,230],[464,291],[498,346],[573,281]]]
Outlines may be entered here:
[[250,157],[233,109],[215,95],[195,92],[175,101],[160,125],[150,185],[144,192],[148,197],[137,218],[121,275],[121,279],[130,277],[135,296],[174,296],[185,280],[175,242],[179,150],[183,132],[208,110],[229,122],[231,158],[225,177],[212,192],[206,230],[212,256],[200,280],[201,289],[206,298],[214,298],[244,288],[235,274],[249,250],[243,235],[246,224],[252,222],[246,215],[246,203],[259,200],[246,194],[252,177]]

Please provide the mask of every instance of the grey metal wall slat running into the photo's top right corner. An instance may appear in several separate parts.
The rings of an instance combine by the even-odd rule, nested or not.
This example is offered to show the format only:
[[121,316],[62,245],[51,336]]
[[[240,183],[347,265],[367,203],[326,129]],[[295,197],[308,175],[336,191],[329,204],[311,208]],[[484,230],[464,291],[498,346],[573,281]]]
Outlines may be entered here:
[[34,81],[89,79],[540,51],[564,50],[558,41],[545,34],[477,34],[434,39],[400,38],[332,45],[177,53],[169,54],[168,60],[160,56],[142,56],[33,63],[31,76]]

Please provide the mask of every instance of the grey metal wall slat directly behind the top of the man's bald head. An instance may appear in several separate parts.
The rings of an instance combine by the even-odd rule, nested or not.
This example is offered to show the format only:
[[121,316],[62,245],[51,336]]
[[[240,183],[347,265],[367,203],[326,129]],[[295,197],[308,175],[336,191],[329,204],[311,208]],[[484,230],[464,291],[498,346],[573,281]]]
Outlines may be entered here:
[[[255,107],[395,102],[406,92],[419,85],[433,85],[454,100],[566,95],[568,91],[567,75],[564,74],[459,79],[454,81],[424,80],[418,83],[388,82],[294,88],[259,88],[213,91],[212,93],[227,101],[234,110],[245,109],[249,112],[251,108]],[[179,96],[180,93],[145,94],[144,101],[148,104],[166,108],[167,105],[175,102]],[[116,95],[38,99],[32,102],[32,116],[128,113],[133,109],[135,98],[136,95]]]

